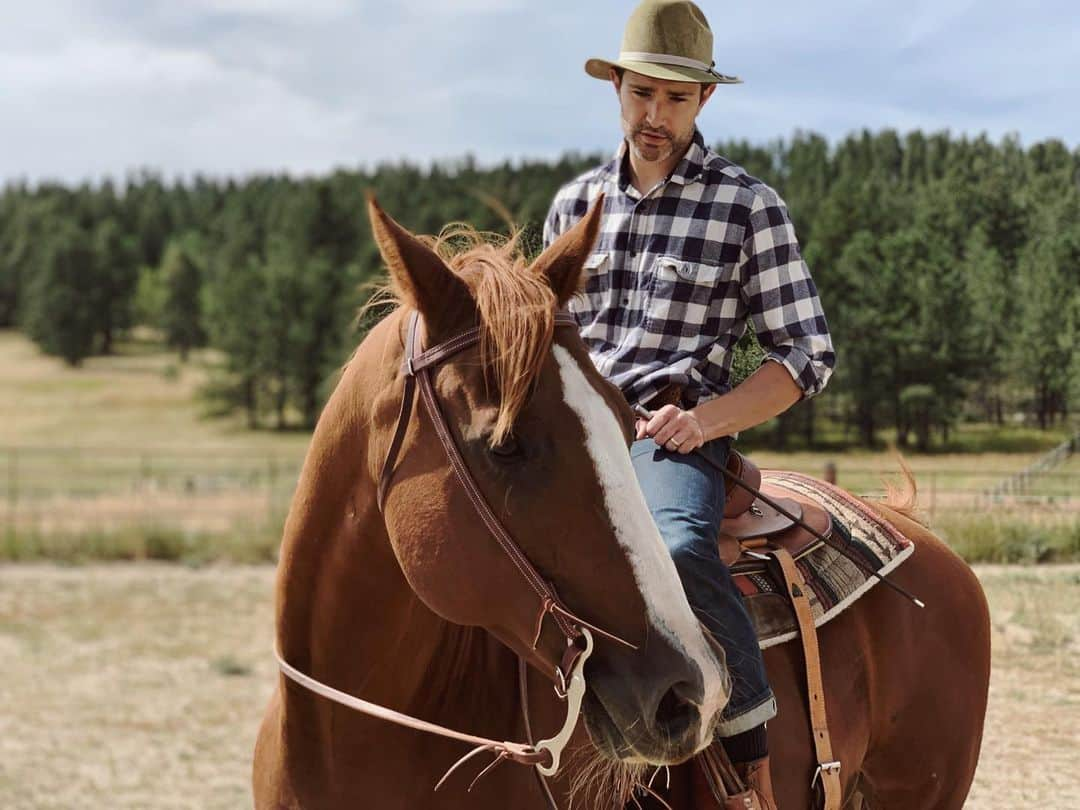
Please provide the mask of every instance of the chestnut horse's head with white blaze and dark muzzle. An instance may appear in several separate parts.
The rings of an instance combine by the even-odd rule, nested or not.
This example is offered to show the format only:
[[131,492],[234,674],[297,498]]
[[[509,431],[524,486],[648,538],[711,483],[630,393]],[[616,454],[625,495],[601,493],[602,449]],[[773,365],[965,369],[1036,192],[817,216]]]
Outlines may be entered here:
[[[602,206],[603,199],[531,265],[513,241],[449,256],[374,200],[368,213],[403,307],[420,313],[421,345],[480,329],[477,346],[431,374],[484,499],[573,613],[635,647],[597,639],[583,704],[593,742],[612,758],[671,764],[711,742],[729,685],[638,488],[627,453],[633,415],[577,329],[556,327]],[[387,456],[403,386],[377,394],[373,458]],[[416,594],[447,621],[483,627],[554,674],[566,636],[542,612],[538,634],[536,593],[477,518],[427,414],[408,422],[392,482],[382,515]]]

